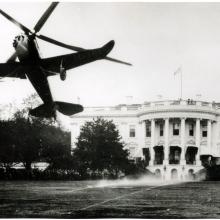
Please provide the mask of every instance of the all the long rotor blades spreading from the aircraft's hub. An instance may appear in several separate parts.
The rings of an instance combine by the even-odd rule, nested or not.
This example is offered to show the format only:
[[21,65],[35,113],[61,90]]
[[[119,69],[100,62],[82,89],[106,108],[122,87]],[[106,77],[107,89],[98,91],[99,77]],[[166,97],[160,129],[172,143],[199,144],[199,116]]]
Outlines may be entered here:
[[[52,2],[50,4],[48,9],[44,12],[44,14],[41,16],[41,18],[38,20],[37,24],[35,25],[34,32],[31,31],[30,29],[28,29],[27,27],[25,27],[23,24],[21,24],[20,22],[18,22],[14,18],[12,18],[10,15],[5,13],[1,9],[0,9],[0,14],[2,14],[5,18],[7,18],[9,21],[11,21],[13,24],[15,24],[17,27],[22,29],[25,32],[25,34],[31,35],[34,38],[37,37],[37,38],[39,38],[41,40],[44,40],[46,42],[49,42],[51,44],[54,44],[54,45],[57,45],[57,46],[60,46],[60,47],[66,48],[66,49],[70,49],[70,50],[73,50],[73,51],[77,51],[77,52],[86,50],[86,49],[81,48],[81,47],[68,45],[68,44],[62,43],[60,41],[54,40],[52,38],[49,38],[47,36],[37,34],[37,32],[41,30],[41,28],[43,27],[43,25],[45,24],[45,22],[47,21],[47,19],[49,18],[49,16],[51,15],[51,13],[53,12],[53,10],[56,8],[57,5],[58,5],[58,2]],[[15,61],[15,59],[16,59],[16,54],[13,54],[8,59],[7,62]],[[124,61],[114,59],[114,58],[111,58],[111,57],[105,57],[104,59],[109,60],[109,61],[113,61],[113,62],[117,62],[117,63],[120,63],[120,64],[125,64],[125,65],[132,66],[131,63],[124,62]]]

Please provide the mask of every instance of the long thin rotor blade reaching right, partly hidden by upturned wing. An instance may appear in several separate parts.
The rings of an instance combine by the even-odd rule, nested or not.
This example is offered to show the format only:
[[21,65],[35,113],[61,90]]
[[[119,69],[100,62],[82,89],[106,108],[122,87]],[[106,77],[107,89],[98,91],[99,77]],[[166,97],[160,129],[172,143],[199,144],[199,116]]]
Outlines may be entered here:
[[[68,44],[64,44],[60,41],[54,40],[54,39],[46,37],[44,35],[36,35],[36,37],[40,38],[41,40],[47,41],[49,43],[55,44],[57,46],[64,47],[64,48],[74,50],[74,51],[77,51],[77,52],[81,52],[81,51],[86,50],[82,47],[76,47],[76,46],[71,46],[71,45],[68,45]],[[105,57],[104,59],[112,61],[112,62],[120,63],[120,64],[125,64],[125,65],[128,65],[128,66],[132,66],[131,63],[127,63],[127,62],[117,60],[117,59],[114,59],[114,58],[111,58],[111,57]]]

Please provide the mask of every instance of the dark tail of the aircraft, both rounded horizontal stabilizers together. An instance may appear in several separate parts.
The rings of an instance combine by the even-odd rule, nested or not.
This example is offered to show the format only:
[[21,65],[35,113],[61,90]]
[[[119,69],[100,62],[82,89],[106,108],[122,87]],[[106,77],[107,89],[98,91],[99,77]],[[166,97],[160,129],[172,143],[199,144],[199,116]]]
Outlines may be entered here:
[[54,102],[54,105],[42,104],[37,108],[31,109],[29,111],[30,115],[35,117],[43,118],[56,118],[56,110],[64,115],[74,115],[76,113],[82,112],[83,107],[79,104],[72,104],[66,102]]

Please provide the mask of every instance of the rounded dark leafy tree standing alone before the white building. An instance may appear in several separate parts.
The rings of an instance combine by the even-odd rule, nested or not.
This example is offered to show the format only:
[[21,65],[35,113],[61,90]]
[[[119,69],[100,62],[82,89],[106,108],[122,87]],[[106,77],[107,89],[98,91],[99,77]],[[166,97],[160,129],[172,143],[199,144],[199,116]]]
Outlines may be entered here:
[[104,170],[117,176],[129,164],[128,151],[112,121],[101,118],[86,122],[81,128],[73,156],[78,162],[78,172],[85,174]]

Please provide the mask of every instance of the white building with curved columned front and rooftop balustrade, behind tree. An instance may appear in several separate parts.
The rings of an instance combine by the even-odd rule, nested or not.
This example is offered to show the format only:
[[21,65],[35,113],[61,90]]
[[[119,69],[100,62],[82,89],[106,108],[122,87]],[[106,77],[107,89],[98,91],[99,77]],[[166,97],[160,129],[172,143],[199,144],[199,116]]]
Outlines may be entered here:
[[86,121],[112,120],[131,159],[149,161],[164,180],[184,180],[220,158],[220,104],[167,100],[115,107],[90,107],[71,117],[72,147]]

